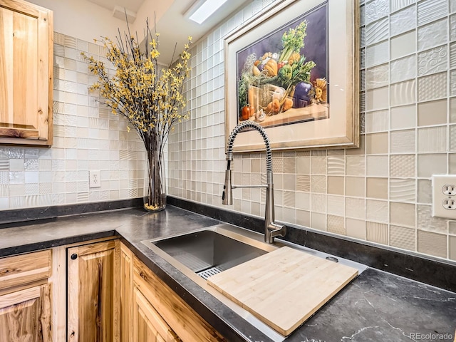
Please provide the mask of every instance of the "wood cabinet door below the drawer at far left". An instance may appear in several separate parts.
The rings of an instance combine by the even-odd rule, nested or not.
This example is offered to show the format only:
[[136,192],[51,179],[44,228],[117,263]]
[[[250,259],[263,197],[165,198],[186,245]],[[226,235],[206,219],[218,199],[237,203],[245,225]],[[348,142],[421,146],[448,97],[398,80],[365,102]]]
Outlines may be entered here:
[[52,341],[49,284],[0,296],[0,341]]

